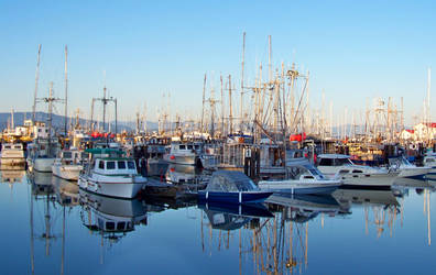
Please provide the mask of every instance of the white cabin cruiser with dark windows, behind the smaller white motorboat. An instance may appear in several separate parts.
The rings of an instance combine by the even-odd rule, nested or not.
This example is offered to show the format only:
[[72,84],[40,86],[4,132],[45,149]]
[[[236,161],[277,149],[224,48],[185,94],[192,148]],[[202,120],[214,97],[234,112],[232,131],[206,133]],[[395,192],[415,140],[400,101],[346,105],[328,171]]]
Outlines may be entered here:
[[320,154],[318,169],[329,178],[344,182],[344,188],[390,189],[400,172],[394,169],[356,165],[349,155]]

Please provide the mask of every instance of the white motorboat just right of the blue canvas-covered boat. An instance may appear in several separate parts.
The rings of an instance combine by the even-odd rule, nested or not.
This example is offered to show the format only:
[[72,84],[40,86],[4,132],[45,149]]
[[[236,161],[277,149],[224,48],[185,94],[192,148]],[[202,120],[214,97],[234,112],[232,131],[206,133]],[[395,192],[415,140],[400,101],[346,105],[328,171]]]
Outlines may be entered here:
[[330,194],[342,184],[325,177],[305,158],[287,161],[286,170],[286,179],[260,180],[259,188],[279,194]]

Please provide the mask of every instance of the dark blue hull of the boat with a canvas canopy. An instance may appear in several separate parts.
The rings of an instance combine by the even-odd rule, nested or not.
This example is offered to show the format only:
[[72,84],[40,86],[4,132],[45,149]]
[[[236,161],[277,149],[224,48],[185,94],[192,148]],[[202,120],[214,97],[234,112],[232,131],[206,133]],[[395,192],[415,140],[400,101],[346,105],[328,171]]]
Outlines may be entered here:
[[199,201],[215,201],[227,204],[261,202],[270,197],[272,191],[198,191]]

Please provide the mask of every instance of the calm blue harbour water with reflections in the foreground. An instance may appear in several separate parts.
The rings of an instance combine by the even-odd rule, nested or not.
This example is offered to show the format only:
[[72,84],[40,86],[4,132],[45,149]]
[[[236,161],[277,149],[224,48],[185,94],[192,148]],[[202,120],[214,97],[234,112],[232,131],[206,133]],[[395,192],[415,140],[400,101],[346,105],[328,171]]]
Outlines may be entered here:
[[434,190],[405,182],[395,196],[338,190],[222,209],[90,196],[3,170],[1,274],[436,274]]

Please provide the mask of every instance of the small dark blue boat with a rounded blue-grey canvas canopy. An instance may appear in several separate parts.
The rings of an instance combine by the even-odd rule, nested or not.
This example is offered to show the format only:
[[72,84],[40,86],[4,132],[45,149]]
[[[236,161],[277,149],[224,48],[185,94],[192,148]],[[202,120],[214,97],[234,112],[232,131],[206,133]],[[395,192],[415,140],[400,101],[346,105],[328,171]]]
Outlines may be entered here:
[[272,191],[260,190],[241,172],[217,170],[212,174],[206,189],[198,191],[198,200],[228,204],[261,202],[272,194]]

